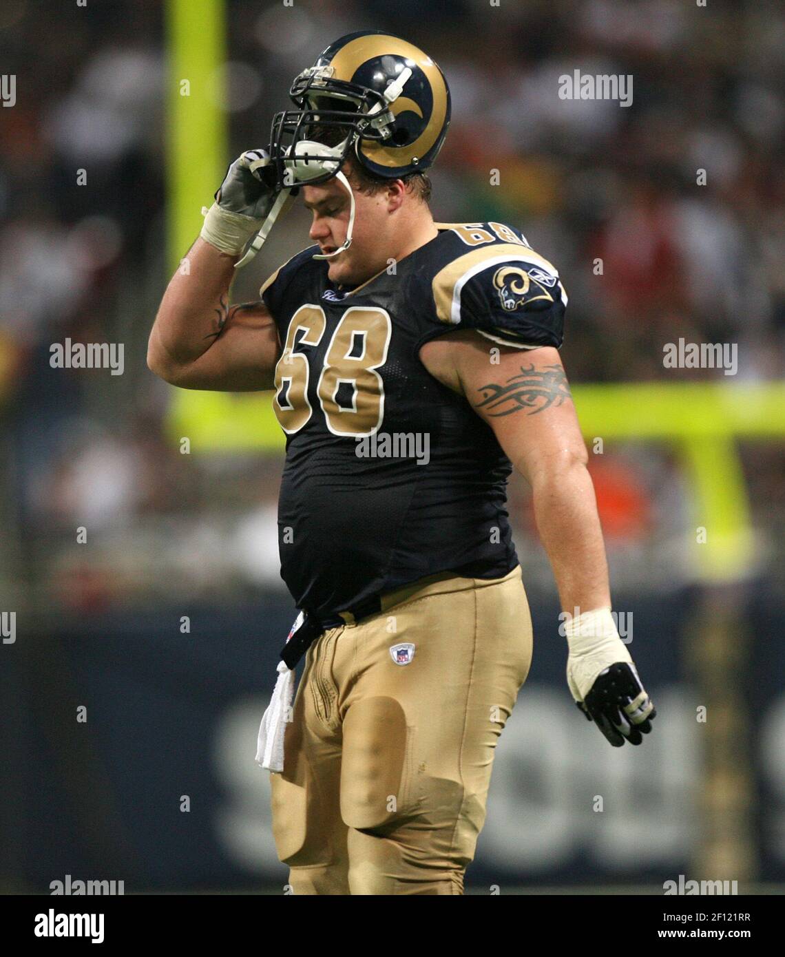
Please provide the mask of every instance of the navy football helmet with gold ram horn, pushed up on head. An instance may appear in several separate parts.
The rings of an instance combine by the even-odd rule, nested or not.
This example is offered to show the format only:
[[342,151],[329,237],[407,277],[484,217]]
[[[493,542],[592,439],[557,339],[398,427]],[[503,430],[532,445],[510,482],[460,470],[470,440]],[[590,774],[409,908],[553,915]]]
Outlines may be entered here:
[[270,136],[279,188],[322,183],[350,154],[388,179],[428,169],[450,123],[450,90],[437,64],[382,31],[331,43],[289,96],[298,108],[276,114]]

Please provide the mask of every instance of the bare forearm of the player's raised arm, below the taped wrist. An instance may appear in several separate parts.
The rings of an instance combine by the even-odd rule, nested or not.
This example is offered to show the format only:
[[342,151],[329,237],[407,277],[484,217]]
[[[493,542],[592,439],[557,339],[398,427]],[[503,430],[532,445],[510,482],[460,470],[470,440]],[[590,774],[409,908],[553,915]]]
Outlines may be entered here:
[[162,378],[188,367],[215,342],[226,322],[237,256],[198,238],[169,280],[147,346],[147,365]]

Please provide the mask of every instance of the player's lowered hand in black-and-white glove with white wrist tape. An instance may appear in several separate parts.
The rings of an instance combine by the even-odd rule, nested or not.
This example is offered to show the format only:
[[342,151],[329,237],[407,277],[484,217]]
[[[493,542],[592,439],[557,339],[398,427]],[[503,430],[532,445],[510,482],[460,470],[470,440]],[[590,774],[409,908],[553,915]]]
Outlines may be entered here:
[[639,745],[657,716],[609,609],[584,612],[565,625],[567,683],[589,721],[614,747]]

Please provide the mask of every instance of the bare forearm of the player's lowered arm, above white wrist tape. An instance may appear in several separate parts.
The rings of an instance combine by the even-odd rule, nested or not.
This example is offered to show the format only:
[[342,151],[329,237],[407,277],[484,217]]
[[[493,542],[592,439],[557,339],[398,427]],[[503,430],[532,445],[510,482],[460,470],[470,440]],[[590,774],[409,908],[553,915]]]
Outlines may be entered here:
[[550,559],[563,611],[611,605],[608,563],[592,479],[567,457],[532,479],[534,517]]

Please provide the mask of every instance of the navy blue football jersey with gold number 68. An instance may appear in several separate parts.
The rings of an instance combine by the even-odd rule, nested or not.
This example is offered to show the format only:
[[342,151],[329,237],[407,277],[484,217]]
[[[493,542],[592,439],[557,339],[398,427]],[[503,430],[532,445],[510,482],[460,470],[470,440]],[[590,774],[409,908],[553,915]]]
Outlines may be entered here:
[[419,349],[456,329],[489,349],[558,347],[567,296],[517,230],[437,228],[353,288],[329,281],[312,246],[260,290],[282,344],[281,576],[298,608],[325,621],[426,575],[498,578],[518,564],[509,459]]

